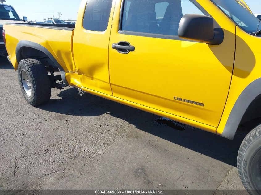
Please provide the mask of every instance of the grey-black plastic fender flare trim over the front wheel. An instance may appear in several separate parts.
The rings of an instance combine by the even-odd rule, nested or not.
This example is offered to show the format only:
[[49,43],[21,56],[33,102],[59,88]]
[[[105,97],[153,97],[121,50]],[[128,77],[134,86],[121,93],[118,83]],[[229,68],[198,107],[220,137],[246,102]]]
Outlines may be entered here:
[[230,140],[234,139],[238,125],[240,124],[240,121],[242,120],[242,117],[244,116],[247,108],[260,94],[261,78],[256,79],[250,83],[239,95],[229,114],[225,128],[222,132],[222,137],[228,138]]

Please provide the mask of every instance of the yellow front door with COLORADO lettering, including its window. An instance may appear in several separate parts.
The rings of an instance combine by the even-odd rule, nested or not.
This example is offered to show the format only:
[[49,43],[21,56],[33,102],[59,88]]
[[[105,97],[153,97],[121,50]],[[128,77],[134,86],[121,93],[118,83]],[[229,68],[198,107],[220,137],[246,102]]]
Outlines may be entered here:
[[[212,2],[202,2],[212,13],[192,0],[117,1],[109,44],[113,96],[218,126],[233,70],[235,24]],[[223,43],[180,39],[185,14],[216,16]]]

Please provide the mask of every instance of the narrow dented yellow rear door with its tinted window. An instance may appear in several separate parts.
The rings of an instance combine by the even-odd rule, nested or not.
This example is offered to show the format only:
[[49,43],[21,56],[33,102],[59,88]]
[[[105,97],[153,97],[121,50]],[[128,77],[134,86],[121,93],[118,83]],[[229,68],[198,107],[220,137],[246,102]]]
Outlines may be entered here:
[[113,0],[83,0],[73,39],[74,61],[80,87],[107,95],[112,95],[108,44],[114,5]]

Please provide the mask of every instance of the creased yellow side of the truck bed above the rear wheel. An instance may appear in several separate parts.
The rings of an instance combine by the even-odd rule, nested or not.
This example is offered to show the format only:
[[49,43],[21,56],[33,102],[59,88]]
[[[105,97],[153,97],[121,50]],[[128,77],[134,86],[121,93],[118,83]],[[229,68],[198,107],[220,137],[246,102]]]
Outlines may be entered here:
[[17,24],[6,23],[4,30],[6,33],[7,52],[15,70],[18,67],[16,60],[16,48],[20,41],[36,43],[46,48],[62,66],[65,73],[75,72],[74,59],[72,55],[72,39],[75,25],[55,25],[55,24]]

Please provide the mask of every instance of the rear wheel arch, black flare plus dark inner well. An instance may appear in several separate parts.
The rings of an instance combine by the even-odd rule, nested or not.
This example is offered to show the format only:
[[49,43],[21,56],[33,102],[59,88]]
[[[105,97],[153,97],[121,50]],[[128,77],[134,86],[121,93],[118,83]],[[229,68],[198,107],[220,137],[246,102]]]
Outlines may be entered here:
[[64,68],[57,62],[57,60],[53,57],[50,51],[48,51],[42,45],[26,40],[19,41],[19,43],[16,46],[15,55],[17,63],[19,63],[21,59],[26,58],[38,58],[44,59],[44,61],[48,61],[48,65],[51,65],[59,69],[59,71],[61,72],[63,82],[68,85],[68,82],[66,81],[65,77]]

